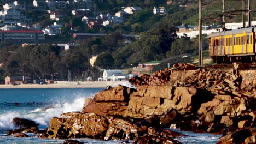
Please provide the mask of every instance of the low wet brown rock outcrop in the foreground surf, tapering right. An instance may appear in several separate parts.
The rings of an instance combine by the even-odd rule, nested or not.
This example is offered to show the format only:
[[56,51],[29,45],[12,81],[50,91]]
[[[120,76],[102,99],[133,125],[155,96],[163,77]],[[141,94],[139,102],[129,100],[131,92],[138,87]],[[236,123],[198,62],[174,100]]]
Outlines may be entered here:
[[69,112],[60,118],[51,118],[47,134],[50,139],[90,137],[100,140],[134,140],[146,135],[173,140],[173,137],[183,136],[171,130],[147,127],[125,119],[82,112]]

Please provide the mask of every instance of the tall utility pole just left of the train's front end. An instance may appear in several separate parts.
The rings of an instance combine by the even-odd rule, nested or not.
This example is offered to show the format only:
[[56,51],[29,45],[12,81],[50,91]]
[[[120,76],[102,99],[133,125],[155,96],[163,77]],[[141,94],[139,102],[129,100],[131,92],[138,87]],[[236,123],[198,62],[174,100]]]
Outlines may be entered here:
[[199,0],[199,47],[198,47],[198,60],[199,66],[202,66],[202,8],[201,0]]

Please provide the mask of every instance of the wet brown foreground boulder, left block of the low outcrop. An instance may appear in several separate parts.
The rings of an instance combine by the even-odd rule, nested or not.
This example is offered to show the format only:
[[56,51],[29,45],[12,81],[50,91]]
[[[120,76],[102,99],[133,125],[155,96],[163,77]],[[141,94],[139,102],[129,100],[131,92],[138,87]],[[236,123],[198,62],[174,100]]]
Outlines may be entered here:
[[103,139],[113,117],[97,116],[93,113],[69,112],[60,118],[53,117],[47,130],[48,137],[53,139],[91,137]]

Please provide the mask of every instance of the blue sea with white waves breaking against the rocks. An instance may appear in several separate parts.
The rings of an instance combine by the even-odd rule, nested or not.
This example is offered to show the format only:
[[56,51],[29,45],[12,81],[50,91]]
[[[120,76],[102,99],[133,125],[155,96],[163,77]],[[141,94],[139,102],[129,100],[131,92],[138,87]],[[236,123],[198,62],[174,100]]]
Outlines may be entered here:
[[[11,120],[14,117],[31,119],[39,124],[39,129],[46,129],[52,117],[61,113],[82,111],[85,98],[93,98],[103,88],[28,88],[0,89],[0,144],[48,144],[63,143],[64,140],[38,139],[29,134],[29,138],[14,138],[5,133],[14,129]],[[195,134],[180,131],[188,137],[177,139],[182,143],[213,144],[219,140],[219,135]],[[97,141],[94,139],[78,139],[85,143],[119,143],[120,141]]]

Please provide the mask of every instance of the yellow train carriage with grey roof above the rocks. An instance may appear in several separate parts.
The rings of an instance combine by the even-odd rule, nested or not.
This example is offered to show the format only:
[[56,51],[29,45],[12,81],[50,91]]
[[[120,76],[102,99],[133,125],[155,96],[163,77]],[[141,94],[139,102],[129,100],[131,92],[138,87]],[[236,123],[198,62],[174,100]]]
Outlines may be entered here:
[[210,56],[215,63],[255,62],[255,38],[254,27],[212,33]]

